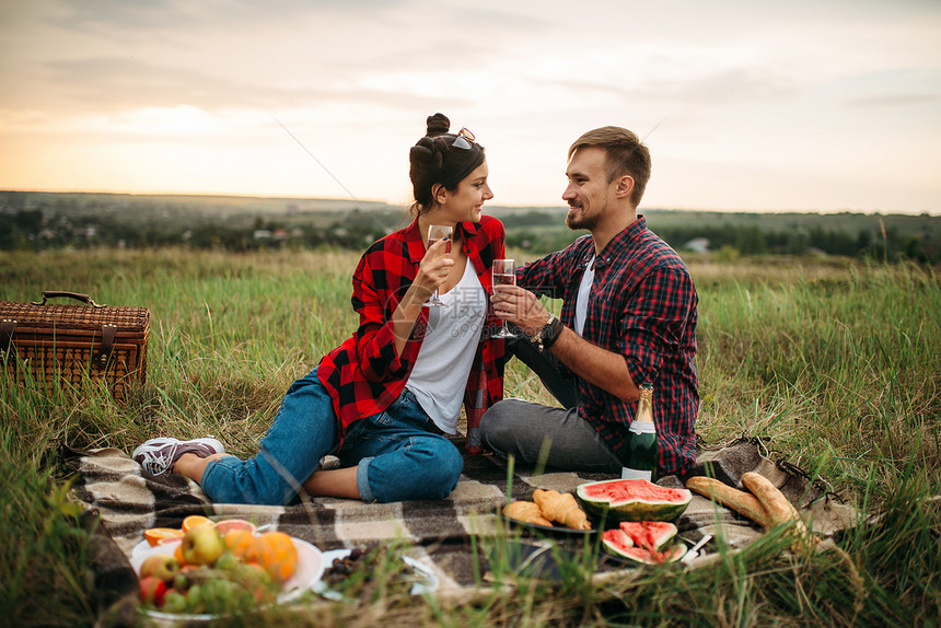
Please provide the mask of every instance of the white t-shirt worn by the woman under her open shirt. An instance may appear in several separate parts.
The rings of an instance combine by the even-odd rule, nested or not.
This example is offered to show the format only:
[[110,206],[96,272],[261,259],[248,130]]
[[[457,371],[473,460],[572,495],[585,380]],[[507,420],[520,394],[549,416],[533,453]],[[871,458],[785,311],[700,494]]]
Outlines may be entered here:
[[487,316],[487,291],[467,260],[461,281],[439,295],[448,305],[430,306],[428,333],[406,387],[442,431],[457,432],[467,376]]

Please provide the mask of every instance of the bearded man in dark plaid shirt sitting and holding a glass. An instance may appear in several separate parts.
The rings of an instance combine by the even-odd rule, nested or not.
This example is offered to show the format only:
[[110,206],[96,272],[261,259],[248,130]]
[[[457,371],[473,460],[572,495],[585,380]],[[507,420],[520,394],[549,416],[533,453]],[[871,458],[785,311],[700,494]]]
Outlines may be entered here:
[[[639,386],[651,383],[658,475],[683,474],[696,456],[698,295],[686,265],[637,213],[650,153],[634,132],[603,127],[572,144],[566,176],[566,224],[589,235],[518,269],[518,286],[492,298],[520,330],[508,348],[564,407],[504,399],[484,415],[484,444],[527,463],[546,456],[551,467],[619,474]],[[541,295],[562,300],[559,318]]]

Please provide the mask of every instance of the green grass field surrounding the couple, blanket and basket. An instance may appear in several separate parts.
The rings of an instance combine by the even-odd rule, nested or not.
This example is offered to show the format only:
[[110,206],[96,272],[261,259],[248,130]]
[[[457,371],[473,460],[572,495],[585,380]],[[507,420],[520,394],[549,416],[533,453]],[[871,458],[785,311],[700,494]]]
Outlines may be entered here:
[[[524,257],[518,253],[518,257]],[[349,252],[0,253],[0,299],[43,290],[146,305],[147,385],[79,403],[0,380],[0,617],[91,626],[88,532],[50,455],[217,434],[253,454],[291,381],[356,325]],[[690,258],[699,294],[697,431],[763,437],[867,517],[812,556],[768,534],[692,572],[520,583],[461,607],[429,600],[271,612],[284,626],[937,626],[941,623],[941,284],[936,270],[789,257]],[[509,395],[549,402],[515,362]],[[16,539],[11,542],[10,539]]]

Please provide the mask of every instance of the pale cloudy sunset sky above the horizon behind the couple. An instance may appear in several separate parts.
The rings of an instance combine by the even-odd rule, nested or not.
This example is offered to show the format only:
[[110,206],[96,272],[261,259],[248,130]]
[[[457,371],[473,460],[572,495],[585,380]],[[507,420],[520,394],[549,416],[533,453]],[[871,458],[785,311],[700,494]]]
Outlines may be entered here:
[[938,0],[0,0],[0,189],[406,205],[441,112],[493,205],[617,125],[642,209],[941,214]]

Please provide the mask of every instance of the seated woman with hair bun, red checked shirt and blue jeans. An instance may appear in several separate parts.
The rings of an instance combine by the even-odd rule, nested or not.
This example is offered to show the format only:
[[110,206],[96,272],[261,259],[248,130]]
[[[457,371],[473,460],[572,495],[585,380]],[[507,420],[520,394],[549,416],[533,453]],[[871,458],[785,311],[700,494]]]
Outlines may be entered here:
[[[146,472],[198,481],[214,502],[284,504],[298,495],[363,501],[440,499],[463,457],[448,438],[463,405],[467,447],[503,394],[502,340],[489,303],[503,225],[483,216],[493,194],[484,149],[435,114],[409,154],[415,220],[375,242],[353,272],[357,332],[294,382],[262,449],[243,461],[214,439],[153,439],[133,452]],[[428,246],[432,224],[453,236]],[[429,306],[438,291],[443,306]],[[320,469],[334,453],[340,468]]]

